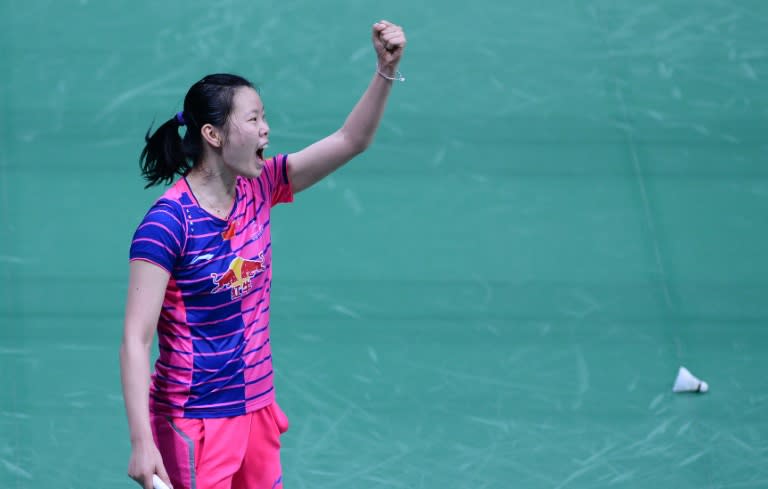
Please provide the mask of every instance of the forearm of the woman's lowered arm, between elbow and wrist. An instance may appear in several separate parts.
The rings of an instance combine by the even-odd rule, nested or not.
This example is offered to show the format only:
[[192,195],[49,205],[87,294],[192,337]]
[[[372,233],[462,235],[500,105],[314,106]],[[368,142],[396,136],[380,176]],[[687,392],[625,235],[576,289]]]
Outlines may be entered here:
[[120,347],[120,377],[131,444],[152,440],[149,424],[149,344],[126,339]]

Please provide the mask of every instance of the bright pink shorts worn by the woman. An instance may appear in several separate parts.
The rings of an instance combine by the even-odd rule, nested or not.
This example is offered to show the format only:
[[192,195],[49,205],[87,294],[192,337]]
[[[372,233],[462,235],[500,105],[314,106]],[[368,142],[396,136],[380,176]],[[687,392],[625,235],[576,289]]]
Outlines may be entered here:
[[283,487],[280,435],[288,418],[277,402],[232,418],[150,418],[173,489]]

